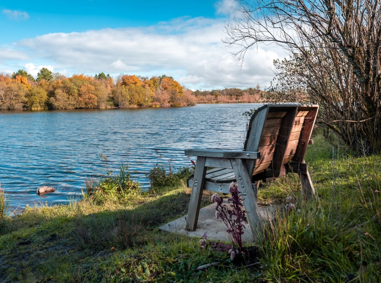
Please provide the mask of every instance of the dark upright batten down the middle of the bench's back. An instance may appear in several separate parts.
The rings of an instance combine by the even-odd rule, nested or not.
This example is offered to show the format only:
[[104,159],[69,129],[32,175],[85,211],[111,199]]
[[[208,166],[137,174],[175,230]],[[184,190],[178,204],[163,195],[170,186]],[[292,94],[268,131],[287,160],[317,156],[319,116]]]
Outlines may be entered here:
[[274,177],[278,177],[280,169],[283,165],[284,157],[286,156],[286,149],[288,147],[290,134],[295,127],[302,128],[302,124],[294,125],[295,115],[298,108],[295,107],[286,113],[282,120],[282,126],[279,129],[278,139],[276,140],[276,147],[274,150],[274,156],[272,158],[272,166]]

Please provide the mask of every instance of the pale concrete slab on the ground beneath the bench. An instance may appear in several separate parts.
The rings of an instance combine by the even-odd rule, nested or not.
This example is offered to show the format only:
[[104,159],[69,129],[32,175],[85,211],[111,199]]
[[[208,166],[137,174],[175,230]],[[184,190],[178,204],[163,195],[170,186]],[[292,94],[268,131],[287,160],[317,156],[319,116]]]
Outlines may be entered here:
[[[224,199],[223,203],[226,204],[230,209],[230,204],[228,203],[227,199]],[[216,206],[217,204],[214,203],[200,209],[197,228],[195,231],[187,231],[185,229],[187,216],[183,216],[182,218],[160,226],[159,229],[198,238],[202,238],[204,233],[206,233],[208,239],[230,242],[231,236],[226,232],[227,227],[221,219],[216,219]],[[263,220],[270,220],[274,210],[275,206],[259,207],[259,213]],[[250,225],[247,224],[245,226],[246,229],[245,233],[242,235],[242,241],[253,242],[254,238],[250,229]]]

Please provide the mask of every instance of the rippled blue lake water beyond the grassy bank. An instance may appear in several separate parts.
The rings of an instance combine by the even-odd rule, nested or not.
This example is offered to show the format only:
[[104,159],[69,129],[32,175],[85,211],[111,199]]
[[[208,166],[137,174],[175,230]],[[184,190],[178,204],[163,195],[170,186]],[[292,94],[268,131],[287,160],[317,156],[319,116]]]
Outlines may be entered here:
[[[119,163],[143,188],[144,173],[191,166],[186,148],[241,149],[243,112],[261,104],[200,104],[158,109],[0,112],[0,183],[12,209],[58,204],[81,196],[85,180],[119,172]],[[56,188],[38,196],[42,185]]]

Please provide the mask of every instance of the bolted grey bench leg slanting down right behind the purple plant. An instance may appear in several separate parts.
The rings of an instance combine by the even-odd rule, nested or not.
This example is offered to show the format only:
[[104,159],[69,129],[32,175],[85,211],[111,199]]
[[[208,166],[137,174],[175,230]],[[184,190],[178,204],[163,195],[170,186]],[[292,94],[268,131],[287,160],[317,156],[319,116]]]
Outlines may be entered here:
[[242,161],[242,159],[231,159],[230,161],[236,175],[238,186],[243,194],[243,202],[253,236],[254,238],[257,238],[257,235],[260,237],[262,227],[258,205],[256,203],[255,193],[253,190],[252,178],[249,175],[246,164]]

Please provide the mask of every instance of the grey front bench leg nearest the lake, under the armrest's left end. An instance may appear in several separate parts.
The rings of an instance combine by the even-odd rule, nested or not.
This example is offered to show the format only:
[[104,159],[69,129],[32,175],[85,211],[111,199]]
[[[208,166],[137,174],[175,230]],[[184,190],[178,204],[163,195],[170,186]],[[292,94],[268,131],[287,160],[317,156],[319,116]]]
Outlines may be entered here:
[[205,157],[197,157],[196,167],[194,169],[191,200],[189,203],[186,230],[194,231],[197,227],[198,213],[200,211],[202,190],[205,185]]

